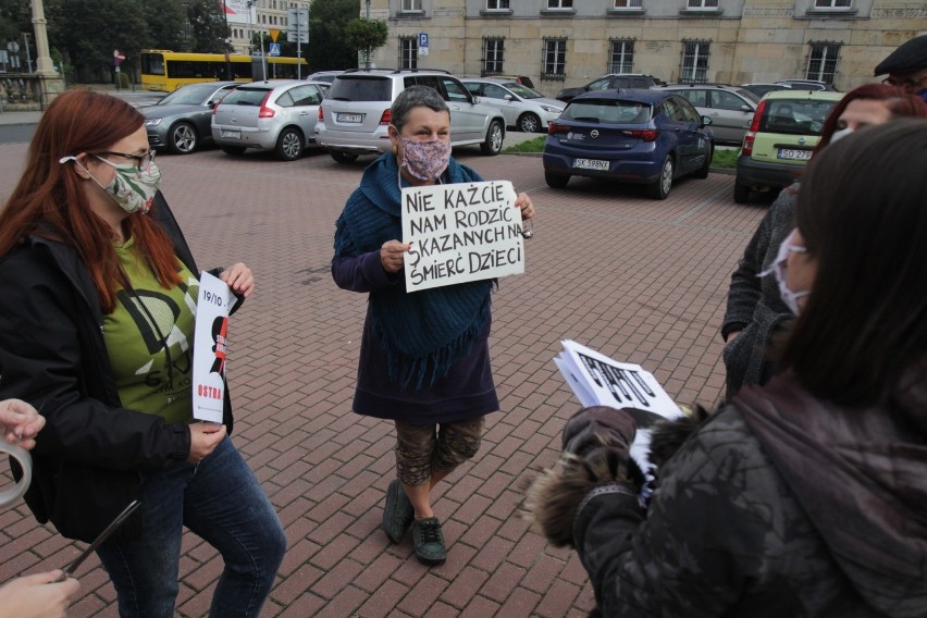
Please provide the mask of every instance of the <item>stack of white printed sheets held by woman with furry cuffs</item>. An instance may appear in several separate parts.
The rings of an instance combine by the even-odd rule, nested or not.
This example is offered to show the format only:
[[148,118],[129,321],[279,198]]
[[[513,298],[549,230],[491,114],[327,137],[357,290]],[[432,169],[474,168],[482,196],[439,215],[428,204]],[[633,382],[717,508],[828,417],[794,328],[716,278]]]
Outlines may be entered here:
[[638,432],[631,444],[631,457],[647,479],[642,497],[648,497],[654,479],[654,467],[650,461],[651,428],[662,419],[682,418],[682,410],[653,373],[640,364],[618,362],[573,341],[560,343],[564,350],[554,358],[554,364],[580,404],[583,407],[621,408],[633,417]]

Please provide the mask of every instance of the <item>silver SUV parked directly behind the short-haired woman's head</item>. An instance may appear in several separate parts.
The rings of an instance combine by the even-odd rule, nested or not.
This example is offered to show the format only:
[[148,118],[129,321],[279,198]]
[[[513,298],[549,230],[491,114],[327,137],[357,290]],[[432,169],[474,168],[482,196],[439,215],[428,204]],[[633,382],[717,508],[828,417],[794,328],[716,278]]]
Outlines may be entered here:
[[428,70],[357,69],[337,75],[319,108],[316,141],[338,163],[387,151],[390,108],[412,85],[431,86],[447,101],[452,146],[479,144],[485,154],[502,151],[506,126],[502,111],[482,104],[449,73]]

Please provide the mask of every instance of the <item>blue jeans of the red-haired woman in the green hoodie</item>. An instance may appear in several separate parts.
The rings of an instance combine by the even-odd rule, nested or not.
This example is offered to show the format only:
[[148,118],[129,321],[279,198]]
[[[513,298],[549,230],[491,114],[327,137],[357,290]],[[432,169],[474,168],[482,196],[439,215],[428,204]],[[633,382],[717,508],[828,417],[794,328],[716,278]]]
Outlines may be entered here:
[[226,437],[198,464],[147,473],[141,537],[97,551],[119,597],[120,616],[174,615],[184,526],[222,555],[225,569],[210,616],[258,616],[286,551],[276,512]]

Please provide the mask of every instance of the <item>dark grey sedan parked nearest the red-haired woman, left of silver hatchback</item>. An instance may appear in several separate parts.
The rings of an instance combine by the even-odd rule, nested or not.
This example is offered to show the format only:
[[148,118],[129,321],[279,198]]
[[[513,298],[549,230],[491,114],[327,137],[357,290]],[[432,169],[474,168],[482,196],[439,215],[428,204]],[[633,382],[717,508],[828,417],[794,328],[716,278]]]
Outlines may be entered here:
[[156,150],[189,154],[212,141],[212,108],[238,82],[207,82],[181,86],[153,106],[139,108],[148,145]]

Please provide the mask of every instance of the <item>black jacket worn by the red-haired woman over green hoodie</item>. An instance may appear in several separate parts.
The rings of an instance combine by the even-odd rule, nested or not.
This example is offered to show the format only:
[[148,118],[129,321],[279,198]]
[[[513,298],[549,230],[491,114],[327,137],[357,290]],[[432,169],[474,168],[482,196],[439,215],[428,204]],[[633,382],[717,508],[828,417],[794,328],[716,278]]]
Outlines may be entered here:
[[[160,193],[149,215],[198,273]],[[138,496],[141,472],[185,461],[190,449],[185,424],[121,407],[102,324],[97,289],[72,248],[29,236],[0,258],[0,399],[25,399],[47,421],[32,452],[26,504],[39,522],[85,542]],[[231,432],[227,388],[223,422]],[[139,518],[122,537],[140,532]]]

